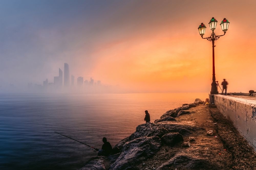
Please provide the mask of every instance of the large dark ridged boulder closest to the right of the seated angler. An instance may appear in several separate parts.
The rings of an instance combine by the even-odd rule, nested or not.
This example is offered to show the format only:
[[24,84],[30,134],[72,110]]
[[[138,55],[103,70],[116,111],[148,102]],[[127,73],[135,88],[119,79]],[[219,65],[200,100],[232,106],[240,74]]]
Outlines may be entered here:
[[161,139],[157,136],[137,138],[125,143],[120,156],[110,166],[111,170],[136,169],[134,165],[159,151]]

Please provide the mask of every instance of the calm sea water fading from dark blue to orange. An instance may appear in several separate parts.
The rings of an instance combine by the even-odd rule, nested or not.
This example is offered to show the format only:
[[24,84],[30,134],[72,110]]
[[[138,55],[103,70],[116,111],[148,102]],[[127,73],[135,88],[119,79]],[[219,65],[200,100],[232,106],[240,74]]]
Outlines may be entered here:
[[167,110],[205,100],[207,93],[0,94],[0,169],[75,170],[97,153],[72,137],[101,148],[114,147],[144,123]]

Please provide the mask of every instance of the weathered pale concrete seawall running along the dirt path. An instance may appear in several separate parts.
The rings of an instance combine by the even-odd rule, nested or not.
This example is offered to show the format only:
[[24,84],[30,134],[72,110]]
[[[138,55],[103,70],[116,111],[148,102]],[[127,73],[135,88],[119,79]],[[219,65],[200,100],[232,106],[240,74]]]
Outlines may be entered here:
[[214,104],[256,151],[256,101],[214,95]]

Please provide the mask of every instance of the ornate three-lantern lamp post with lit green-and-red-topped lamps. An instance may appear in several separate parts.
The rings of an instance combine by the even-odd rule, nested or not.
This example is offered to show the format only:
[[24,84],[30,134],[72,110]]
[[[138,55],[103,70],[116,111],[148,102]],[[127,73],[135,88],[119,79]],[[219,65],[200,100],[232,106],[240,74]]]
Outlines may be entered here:
[[223,19],[223,21],[221,21],[221,28],[222,31],[224,32],[223,35],[215,35],[214,30],[216,28],[217,25],[217,20],[212,17],[212,19],[209,22],[210,25],[210,29],[212,30],[212,35],[210,37],[207,38],[203,38],[203,35],[205,33],[206,27],[203,23],[201,23],[201,25],[198,27],[199,30],[199,34],[201,35],[201,37],[203,39],[207,39],[208,41],[212,41],[212,88],[211,88],[211,94],[218,94],[218,89],[217,89],[217,83],[216,83],[216,79],[215,79],[215,64],[214,64],[214,41],[219,39],[219,37],[223,36],[226,34],[227,30],[228,30],[228,26],[229,26],[229,22],[226,18]]

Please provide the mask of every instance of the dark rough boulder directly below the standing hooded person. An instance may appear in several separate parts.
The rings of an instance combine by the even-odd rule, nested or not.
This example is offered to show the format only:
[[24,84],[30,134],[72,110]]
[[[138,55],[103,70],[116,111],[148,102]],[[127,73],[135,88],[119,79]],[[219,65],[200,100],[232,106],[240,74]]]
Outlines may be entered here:
[[136,132],[129,136],[129,140],[140,138],[142,136],[158,136],[159,138],[169,133],[167,129],[156,123],[144,123],[136,128]]

